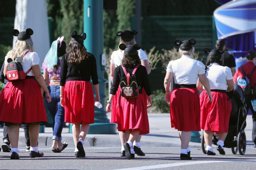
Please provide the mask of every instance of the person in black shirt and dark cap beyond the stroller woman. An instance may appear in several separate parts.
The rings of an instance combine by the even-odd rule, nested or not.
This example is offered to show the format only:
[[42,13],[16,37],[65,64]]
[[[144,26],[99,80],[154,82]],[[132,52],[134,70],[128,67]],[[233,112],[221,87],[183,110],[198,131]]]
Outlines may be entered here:
[[226,41],[223,39],[219,39],[216,41],[216,48],[221,48],[224,50],[224,53],[221,55],[221,61],[223,63],[222,66],[227,66],[231,69],[232,72],[232,76],[234,76],[235,72],[236,72],[236,62],[235,62],[235,58],[233,55],[227,53],[225,51],[226,49]]

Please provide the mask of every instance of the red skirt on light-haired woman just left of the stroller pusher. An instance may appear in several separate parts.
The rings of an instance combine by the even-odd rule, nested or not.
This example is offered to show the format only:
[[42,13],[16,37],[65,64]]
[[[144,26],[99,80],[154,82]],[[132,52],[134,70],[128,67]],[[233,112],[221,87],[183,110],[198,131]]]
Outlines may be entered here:
[[171,126],[179,131],[200,131],[200,101],[196,88],[174,88],[170,97]]

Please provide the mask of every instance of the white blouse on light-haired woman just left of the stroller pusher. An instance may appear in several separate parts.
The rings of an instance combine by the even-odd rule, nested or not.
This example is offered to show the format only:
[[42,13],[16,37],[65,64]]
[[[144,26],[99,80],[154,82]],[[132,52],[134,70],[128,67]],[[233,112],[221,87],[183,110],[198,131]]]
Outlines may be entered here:
[[198,74],[205,73],[202,62],[192,59],[189,55],[182,55],[178,60],[169,62],[166,71],[173,73],[176,84],[196,84]]

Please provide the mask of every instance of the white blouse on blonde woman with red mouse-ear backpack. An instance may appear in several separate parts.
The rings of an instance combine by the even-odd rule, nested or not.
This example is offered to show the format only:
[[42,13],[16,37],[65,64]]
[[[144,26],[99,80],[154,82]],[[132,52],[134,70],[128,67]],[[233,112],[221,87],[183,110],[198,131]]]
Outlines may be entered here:
[[[7,55],[8,56],[8,55]],[[4,64],[8,65],[7,59],[8,57],[5,57]],[[24,72],[27,72],[33,65],[39,65],[40,58],[36,52],[28,52],[21,62],[22,68]],[[33,70],[31,70],[28,74],[28,76],[34,76]]]

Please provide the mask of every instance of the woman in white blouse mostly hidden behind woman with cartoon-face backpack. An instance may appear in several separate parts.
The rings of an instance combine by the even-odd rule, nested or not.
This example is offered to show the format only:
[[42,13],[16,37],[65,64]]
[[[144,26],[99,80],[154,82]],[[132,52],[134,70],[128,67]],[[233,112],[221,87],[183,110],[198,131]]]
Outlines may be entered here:
[[[119,40],[119,45],[120,44],[125,44],[126,46],[128,45],[134,45],[136,44],[136,41],[135,41],[135,38],[134,38],[134,35],[137,34],[137,31],[135,30],[126,30],[124,32],[122,31],[118,31],[116,33],[117,36],[120,36],[120,40]],[[145,52],[142,50],[142,49],[139,49],[138,50],[138,55],[140,57],[140,62],[141,62],[141,65],[145,66],[146,69],[147,69],[147,72],[148,74],[150,73],[150,66],[149,66],[149,63],[148,63],[148,57],[147,55],[145,54]],[[111,55],[111,60],[110,60],[110,75],[111,75],[111,82],[113,82],[113,79],[114,79],[114,70],[116,69],[117,66],[121,65],[122,64],[122,59],[124,57],[124,50],[121,50],[121,49],[117,49],[116,51],[114,51]],[[118,105],[118,96],[120,95],[120,91],[121,91],[121,88],[119,87],[117,92],[116,92],[116,95],[113,97],[112,99],[112,110],[111,110],[111,122],[113,123],[117,123],[117,112],[119,112],[118,108],[119,108],[119,105]],[[142,94],[145,98],[145,101],[148,100],[148,96],[145,92],[144,89],[142,89]],[[120,140],[121,140],[121,144],[122,144],[122,148],[121,148],[121,157],[124,157],[125,156],[125,151],[124,151],[124,143],[127,142],[126,138],[125,138],[125,135],[122,131],[119,131],[119,137],[120,137]],[[145,153],[141,151],[140,149],[140,139],[141,139],[141,135],[139,135],[137,137],[137,139],[133,142],[133,149],[134,149],[134,152],[135,154],[137,154],[138,156],[145,156]]]

